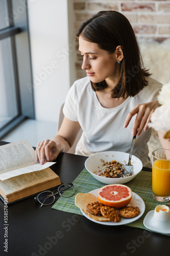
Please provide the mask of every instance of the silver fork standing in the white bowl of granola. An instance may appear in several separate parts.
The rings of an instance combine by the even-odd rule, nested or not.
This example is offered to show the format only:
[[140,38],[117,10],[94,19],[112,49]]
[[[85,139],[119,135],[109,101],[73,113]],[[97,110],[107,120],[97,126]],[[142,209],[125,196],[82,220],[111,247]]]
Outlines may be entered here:
[[128,163],[124,164],[122,167],[121,174],[123,175],[123,177],[131,176],[133,174],[133,165],[131,164],[131,158],[132,158],[135,140],[136,140],[136,135],[134,135],[132,139],[131,149],[129,153],[129,161]]

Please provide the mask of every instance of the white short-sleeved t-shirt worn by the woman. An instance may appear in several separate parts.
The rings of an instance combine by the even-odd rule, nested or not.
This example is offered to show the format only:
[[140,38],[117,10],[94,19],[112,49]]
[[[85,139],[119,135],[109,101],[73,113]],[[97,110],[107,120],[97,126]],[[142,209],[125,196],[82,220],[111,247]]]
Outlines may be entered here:
[[[149,78],[149,85],[136,96],[128,97],[116,108],[104,108],[96,93],[92,90],[90,78],[77,80],[70,88],[64,108],[64,115],[72,121],[78,121],[83,133],[76,147],[76,154],[90,156],[104,151],[122,151],[129,153],[132,142],[132,127],[136,115],[125,129],[124,122],[128,113],[137,105],[155,100],[161,83]],[[147,142],[151,129],[142,131],[136,138],[133,155],[138,157],[143,166],[151,167],[148,158]]]

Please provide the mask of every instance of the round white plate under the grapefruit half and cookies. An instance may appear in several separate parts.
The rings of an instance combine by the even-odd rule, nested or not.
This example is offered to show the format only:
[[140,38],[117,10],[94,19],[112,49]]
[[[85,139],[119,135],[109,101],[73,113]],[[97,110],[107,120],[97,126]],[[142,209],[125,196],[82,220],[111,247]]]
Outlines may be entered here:
[[[97,197],[98,190],[99,190],[99,188],[95,189],[95,190],[92,190],[89,193]],[[80,209],[80,210],[81,210],[82,214],[87,219],[89,219],[90,221],[93,221],[93,222],[96,222],[96,223],[99,223],[99,224],[103,224],[103,225],[108,225],[108,226],[118,226],[118,225],[125,225],[125,224],[128,224],[128,223],[134,222],[144,214],[145,204],[144,204],[143,200],[141,199],[141,197],[139,197],[134,192],[132,192],[132,199],[131,199],[131,202],[128,204],[128,206],[138,206],[139,209],[140,209],[140,214],[138,216],[134,217],[134,218],[131,218],[131,219],[125,219],[125,218],[122,217],[120,222],[95,221],[95,220],[92,220],[90,217],[88,217],[88,215],[82,209]]]

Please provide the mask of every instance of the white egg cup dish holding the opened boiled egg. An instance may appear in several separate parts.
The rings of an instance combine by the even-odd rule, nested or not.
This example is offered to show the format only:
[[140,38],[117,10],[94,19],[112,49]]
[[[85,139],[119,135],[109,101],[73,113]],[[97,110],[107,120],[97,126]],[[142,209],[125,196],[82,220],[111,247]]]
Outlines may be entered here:
[[166,221],[157,221],[154,216],[154,210],[148,212],[148,214],[144,217],[143,225],[155,232],[162,234],[170,234],[170,219]]

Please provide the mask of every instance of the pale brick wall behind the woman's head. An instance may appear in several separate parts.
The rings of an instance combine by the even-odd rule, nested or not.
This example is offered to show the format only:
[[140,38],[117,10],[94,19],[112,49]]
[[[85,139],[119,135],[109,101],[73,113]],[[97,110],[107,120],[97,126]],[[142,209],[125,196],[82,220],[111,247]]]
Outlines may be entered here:
[[[123,13],[130,21],[137,38],[162,42],[170,38],[170,1],[157,0],[74,0],[75,30],[91,14],[101,10]],[[86,73],[81,70],[82,58],[77,54],[77,78]]]

